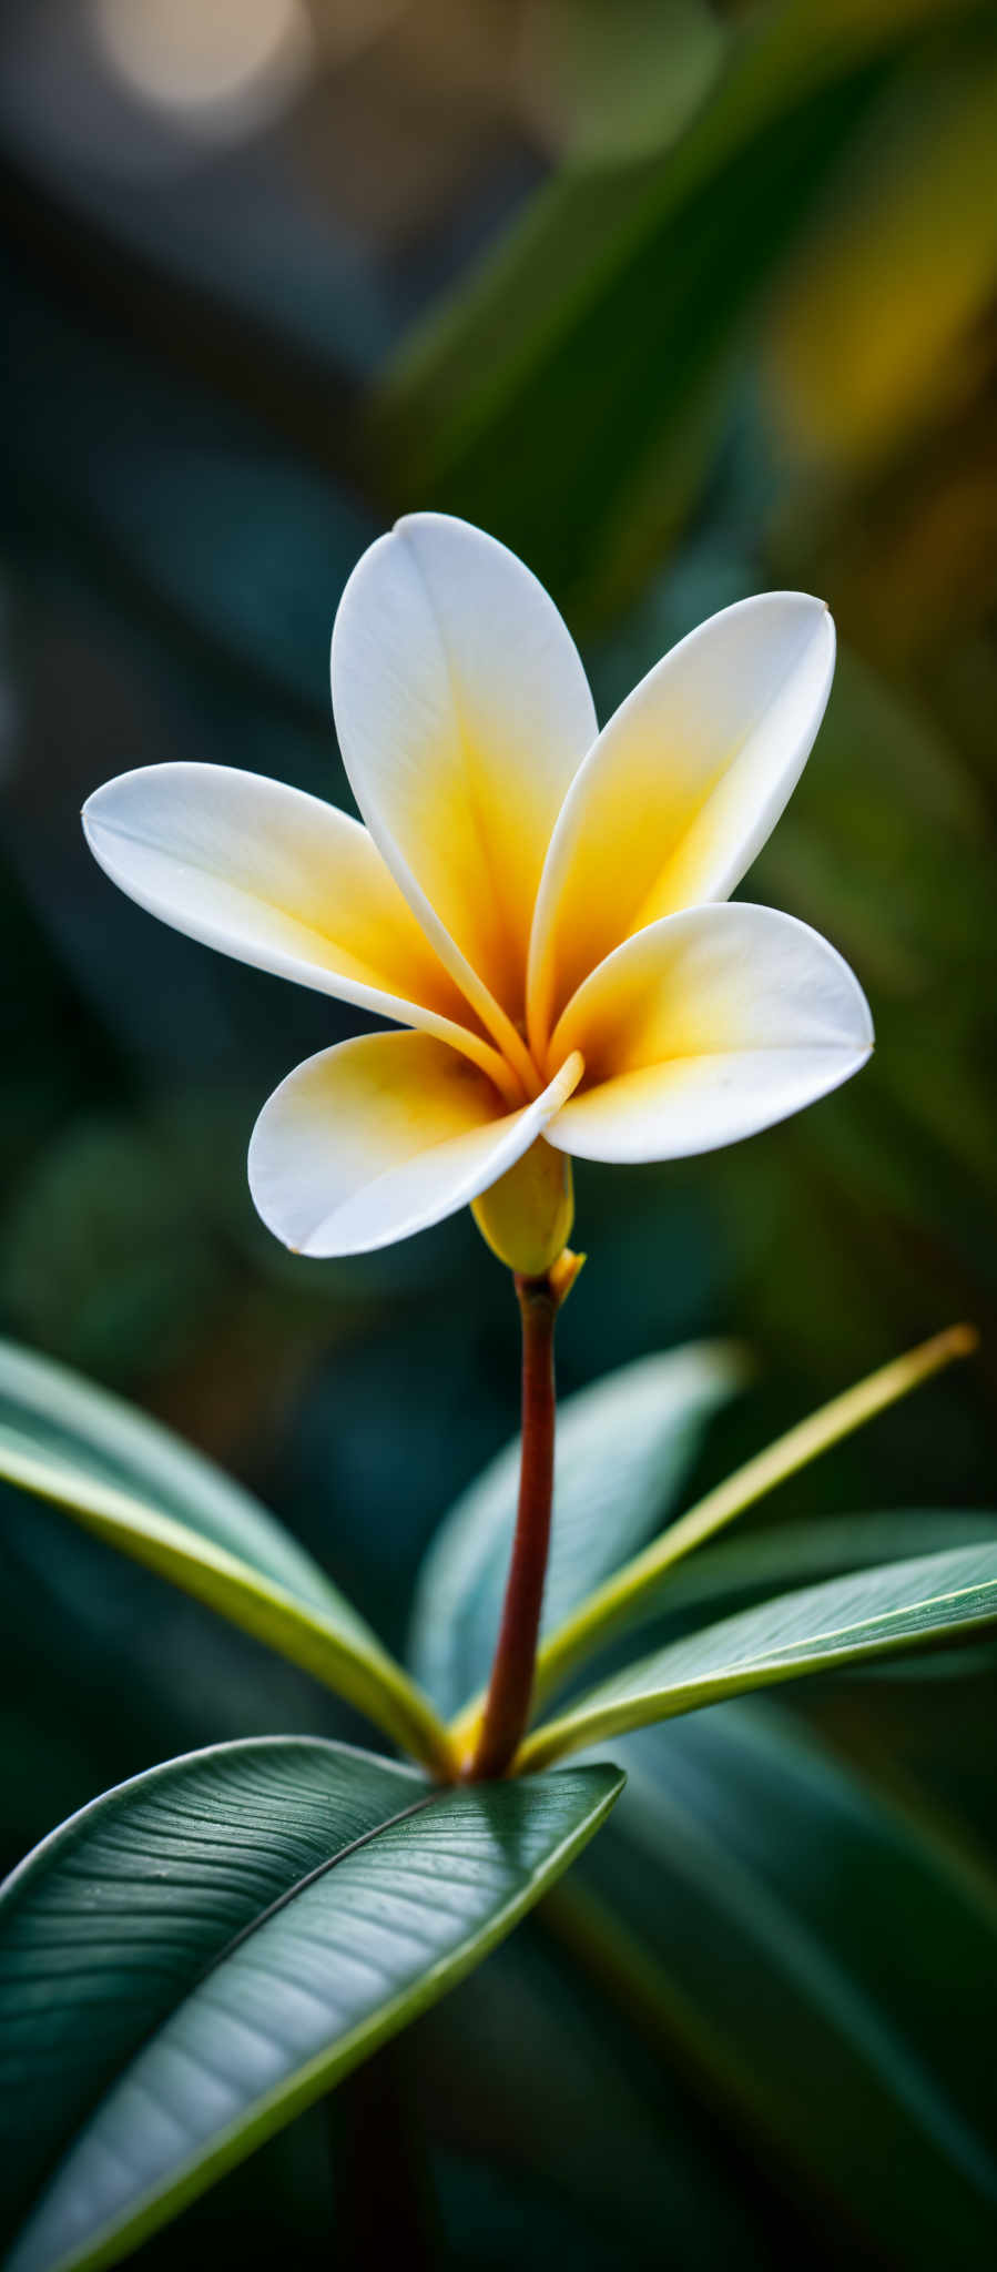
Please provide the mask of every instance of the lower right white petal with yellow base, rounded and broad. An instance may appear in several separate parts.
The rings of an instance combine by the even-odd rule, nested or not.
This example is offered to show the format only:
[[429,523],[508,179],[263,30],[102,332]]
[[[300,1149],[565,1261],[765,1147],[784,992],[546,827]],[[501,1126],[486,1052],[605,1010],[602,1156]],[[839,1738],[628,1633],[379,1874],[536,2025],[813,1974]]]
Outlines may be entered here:
[[552,1056],[584,1086],[545,1129],[581,1159],[684,1159],[838,1088],[872,1050],[843,957],[770,907],[693,907],[615,950],[568,1004]]

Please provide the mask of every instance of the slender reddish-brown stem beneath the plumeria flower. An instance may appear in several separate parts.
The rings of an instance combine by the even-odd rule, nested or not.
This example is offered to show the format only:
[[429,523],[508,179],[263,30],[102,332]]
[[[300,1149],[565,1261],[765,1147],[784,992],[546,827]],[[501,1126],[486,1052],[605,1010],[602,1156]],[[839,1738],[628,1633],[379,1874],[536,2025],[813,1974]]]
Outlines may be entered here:
[[522,1315],[520,1506],[481,1736],[466,1770],[468,1781],[475,1784],[506,1772],[529,1724],[550,1552],[556,1409],[554,1318],[561,1297],[550,1277],[516,1277],[516,1295]]

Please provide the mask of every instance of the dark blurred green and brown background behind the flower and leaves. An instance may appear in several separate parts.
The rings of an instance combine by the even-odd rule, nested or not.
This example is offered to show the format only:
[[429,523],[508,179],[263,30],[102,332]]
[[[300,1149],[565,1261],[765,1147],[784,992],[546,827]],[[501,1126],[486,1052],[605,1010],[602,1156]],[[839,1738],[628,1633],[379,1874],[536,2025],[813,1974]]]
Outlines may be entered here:
[[[347,804],[329,627],[411,507],[525,554],[602,716],[729,600],[824,595],[831,709],[745,891],[854,961],[877,1056],[731,1152],[579,1170],[561,1379],[749,1340],[709,1481],[967,1315],[981,1359],[770,1518],[992,1504],[995,152],[997,18],[956,0],[5,0],[2,1322],[252,1481],[393,1645],[434,1525],[516,1425],[504,1272],[470,1216],[357,1263],[268,1238],[254,1113],[361,1020],[148,920],[89,861],[79,802],[186,757]],[[170,1752],[359,1734],[14,1497],[0,1620],[7,1861]],[[961,1731],[983,1704],[967,1674],[799,1709],[938,1786],[981,1847]],[[627,2263],[661,2263],[663,2229],[677,2263],[820,2263],[731,2138],[718,2190],[711,2113],[559,1965],[527,1940],[400,2054],[441,2261],[618,2263],[625,2192]],[[454,2043],[486,2045],[477,2097]],[[363,2088],[334,2118],[347,2158],[379,2124]],[[604,2192],[597,2113],[631,2156]],[[143,2261],[325,2263],[327,2183],[316,2115]]]

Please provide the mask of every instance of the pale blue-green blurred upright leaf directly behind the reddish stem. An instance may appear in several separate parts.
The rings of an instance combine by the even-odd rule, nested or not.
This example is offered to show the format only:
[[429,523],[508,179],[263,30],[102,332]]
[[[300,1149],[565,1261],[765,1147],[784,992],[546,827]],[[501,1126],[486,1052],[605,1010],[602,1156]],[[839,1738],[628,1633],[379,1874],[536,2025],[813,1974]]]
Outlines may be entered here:
[[[554,1631],[661,1525],[706,1422],[740,1388],[745,1370],[731,1343],[704,1340],[643,1356],[565,1397],[543,1631]],[[456,1502],[422,1563],[411,1663],[443,1713],[468,1702],[491,1663],[518,1481],[516,1438]]]

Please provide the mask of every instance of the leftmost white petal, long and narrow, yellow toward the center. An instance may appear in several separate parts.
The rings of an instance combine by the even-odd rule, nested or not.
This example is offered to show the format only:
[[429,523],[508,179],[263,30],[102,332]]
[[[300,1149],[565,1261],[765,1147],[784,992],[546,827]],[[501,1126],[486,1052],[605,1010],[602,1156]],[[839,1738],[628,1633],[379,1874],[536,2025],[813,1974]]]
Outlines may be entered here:
[[84,829],[173,929],[495,1066],[377,845],[334,804],[227,766],[143,766],[95,791]]

